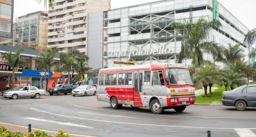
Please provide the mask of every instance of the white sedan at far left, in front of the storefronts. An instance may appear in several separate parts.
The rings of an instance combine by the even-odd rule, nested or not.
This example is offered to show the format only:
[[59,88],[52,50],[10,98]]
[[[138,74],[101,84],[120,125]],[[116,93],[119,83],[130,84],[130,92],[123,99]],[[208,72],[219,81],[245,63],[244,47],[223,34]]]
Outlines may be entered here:
[[40,98],[46,94],[44,89],[38,89],[35,86],[20,86],[15,89],[8,90],[3,93],[4,98],[17,99],[24,97]]

